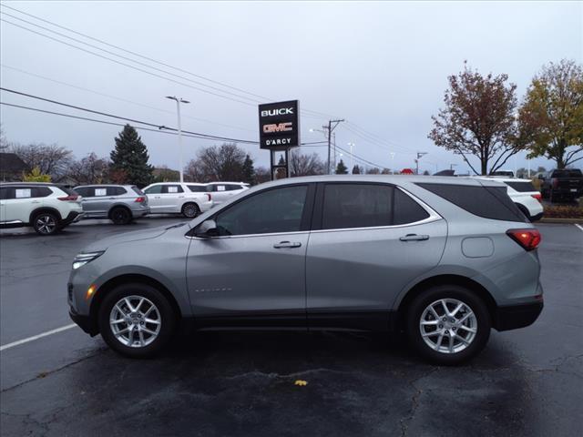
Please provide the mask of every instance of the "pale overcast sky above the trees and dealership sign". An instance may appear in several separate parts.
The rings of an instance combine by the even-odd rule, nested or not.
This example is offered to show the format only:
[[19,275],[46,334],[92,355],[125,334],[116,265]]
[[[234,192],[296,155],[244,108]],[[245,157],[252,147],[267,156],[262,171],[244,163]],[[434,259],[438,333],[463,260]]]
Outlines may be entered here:
[[[387,168],[413,167],[414,153],[422,151],[428,154],[421,159],[421,170],[434,172],[452,163],[459,164],[458,171],[467,169],[460,157],[435,147],[427,138],[431,116],[443,103],[447,76],[459,72],[465,59],[484,74],[508,74],[517,84],[519,97],[542,65],[561,58],[583,60],[581,2],[11,1],[2,5],[188,72],[128,55],[2,7],[3,20],[184,84],[3,21],[1,83],[6,88],[169,127],[176,126],[176,107],[164,97],[176,95],[192,102],[182,108],[184,129],[252,140],[258,138],[257,107],[252,99],[258,97],[220,84],[271,101],[299,99],[302,109],[345,118],[349,123],[336,129],[337,144],[348,148],[346,144],[353,142],[355,155]],[[184,78],[133,64],[7,14]],[[249,104],[195,88],[221,95],[228,91],[238,97],[227,97]],[[7,103],[107,119],[5,92],[0,97]],[[77,158],[92,151],[107,156],[120,129],[15,107],[0,110],[8,140],[58,143],[71,148]],[[322,128],[327,118],[307,115],[302,117],[302,141],[322,140],[322,133],[309,129]],[[151,163],[178,168],[176,137],[140,134]],[[371,135],[382,142],[373,144]],[[185,138],[185,162],[200,147],[212,144],[220,143]],[[243,147],[257,163],[269,165],[267,151]],[[302,149],[325,155],[325,147]],[[344,161],[348,165],[350,158],[344,156]],[[545,159],[535,159],[531,165],[551,167]],[[526,166],[523,154],[511,158],[506,168]]]

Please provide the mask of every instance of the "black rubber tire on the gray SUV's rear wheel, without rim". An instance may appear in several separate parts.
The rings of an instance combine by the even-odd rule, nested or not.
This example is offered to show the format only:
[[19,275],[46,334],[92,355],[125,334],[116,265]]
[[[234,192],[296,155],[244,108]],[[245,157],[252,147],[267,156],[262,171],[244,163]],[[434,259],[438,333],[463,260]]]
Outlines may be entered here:
[[[435,351],[435,349],[431,348],[422,337],[420,322],[424,310],[435,301],[443,299],[459,300],[460,302],[465,303],[465,305],[474,312],[476,317],[476,336],[470,341],[469,345],[467,345],[464,350],[451,353]],[[441,315],[439,316],[441,317]],[[457,316],[461,317],[461,314],[458,314]],[[441,320],[439,321],[441,322]],[[442,326],[445,329],[444,325],[439,326]],[[486,342],[490,337],[491,327],[492,321],[490,320],[490,314],[486,308],[485,302],[478,297],[475,292],[457,285],[439,285],[424,290],[411,302],[406,314],[406,333],[409,338],[409,343],[414,351],[424,357],[425,360],[439,365],[456,365],[474,358],[486,346]],[[435,330],[437,329],[438,328],[435,327]],[[470,335],[466,334],[465,330],[460,329],[459,332],[464,332],[464,335]],[[465,338],[467,339],[468,337]],[[444,336],[443,339],[447,340],[448,345],[448,334],[447,337]],[[438,339],[435,340],[435,342],[438,342]]]

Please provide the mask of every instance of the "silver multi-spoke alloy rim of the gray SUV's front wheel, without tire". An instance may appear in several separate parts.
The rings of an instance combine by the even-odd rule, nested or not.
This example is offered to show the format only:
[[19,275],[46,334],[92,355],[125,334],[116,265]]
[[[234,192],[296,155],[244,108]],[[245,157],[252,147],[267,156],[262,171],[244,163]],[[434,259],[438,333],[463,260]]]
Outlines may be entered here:
[[144,348],[158,338],[162,318],[151,300],[127,296],[118,300],[111,309],[109,327],[124,346]]

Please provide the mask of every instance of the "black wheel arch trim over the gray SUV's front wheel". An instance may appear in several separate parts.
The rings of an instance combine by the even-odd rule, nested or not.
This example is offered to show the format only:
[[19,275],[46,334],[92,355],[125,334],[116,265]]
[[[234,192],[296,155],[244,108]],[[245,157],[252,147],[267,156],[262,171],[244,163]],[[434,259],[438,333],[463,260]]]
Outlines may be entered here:
[[177,322],[179,322],[179,320],[182,318],[182,311],[180,310],[179,303],[174,298],[172,293],[161,282],[159,282],[159,280],[142,274],[123,274],[108,279],[97,289],[95,297],[91,301],[91,306],[89,307],[89,320],[90,320],[89,330],[91,335],[96,335],[99,332],[98,326],[99,308],[101,308],[101,304],[105,297],[107,296],[107,293],[111,290],[114,290],[119,285],[136,282],[140,284],[149,285],[150,287],[154,287],[156,290],[159,290],[159,292],[162,293],[162,295],[169,301],[170,306],[174,311],[176,320]]

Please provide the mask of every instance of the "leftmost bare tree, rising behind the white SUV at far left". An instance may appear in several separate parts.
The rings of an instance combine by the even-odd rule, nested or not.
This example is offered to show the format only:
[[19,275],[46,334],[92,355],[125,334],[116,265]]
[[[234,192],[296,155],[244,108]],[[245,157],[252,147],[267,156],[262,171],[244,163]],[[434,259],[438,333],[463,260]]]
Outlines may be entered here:
[[55,182],[66,176],[73,161],[73,152],[56,144],[15,144],[10,148],[28,168],[38,168],[42,174],[50,175]]

